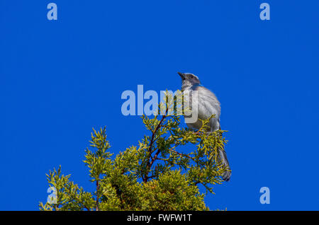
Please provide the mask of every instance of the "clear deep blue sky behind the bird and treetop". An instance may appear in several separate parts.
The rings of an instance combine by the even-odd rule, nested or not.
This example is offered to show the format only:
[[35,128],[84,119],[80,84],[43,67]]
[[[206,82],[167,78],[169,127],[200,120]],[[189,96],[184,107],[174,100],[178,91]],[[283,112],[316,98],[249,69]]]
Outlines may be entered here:
[[177,90],[177,71],[216,93],[229,131],[233,176],[208,207],[319,210],[319,1],[55,0],[48,21],[50,2],[0,0],[1,210],[38,210],[59,165],[92,190],[91,128],[106,125],[115,153],[138,144],[121,93]]

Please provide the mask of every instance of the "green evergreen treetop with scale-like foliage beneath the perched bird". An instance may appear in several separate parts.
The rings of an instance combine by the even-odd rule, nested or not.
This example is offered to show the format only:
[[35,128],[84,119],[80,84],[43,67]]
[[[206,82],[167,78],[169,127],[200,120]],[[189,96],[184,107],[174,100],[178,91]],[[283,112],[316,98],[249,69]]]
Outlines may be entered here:
[[[223,183],[227,168],[218,160],[218,147],[226,143],[223,130],[206,132],[209,120],[194,132],[180,127],[181,118],[169,109],[173,101],[159,103],[163,115],[142,122],[150,135],[115,157],[108,151],[106,128],[93,129],[84,163],[89,168],[94,192],[86,192],[62,175],[61,166],[47,174],[55,201],[41,210],[208,210],[204,197],[213,185]],[[213,115],[212,115],[213,116]],[[206,192],[200,192],[203,185]]]

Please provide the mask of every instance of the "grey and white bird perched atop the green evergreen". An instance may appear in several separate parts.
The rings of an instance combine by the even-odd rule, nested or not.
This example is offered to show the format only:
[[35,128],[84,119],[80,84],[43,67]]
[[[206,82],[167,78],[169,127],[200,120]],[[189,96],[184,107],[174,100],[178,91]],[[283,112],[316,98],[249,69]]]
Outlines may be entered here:
[[[200,129],[202,126],[201,120],[208,120],[212,115],[215,115],[210,119],[208,132],[215,132],[220,129],[220,102],[215,94],[201,85],[198,76],[181,72],[177,72],[177,74],[181,76],[181,91],[189,95],[191,113],[197,115],[197,120],[195,121],[187,123],[185,120],[187,127],[193,130]],[[196,108],[191,107],[191,105],[196,105],[196,103]],[[186,117],[186,115],[184,115],[184,117]],[[222,178],[225,181],[229,181],[232,172],[230,171],[228,158],[224,149],[218,148],[218,158],[227,169],[225,173],[223,173]]]

